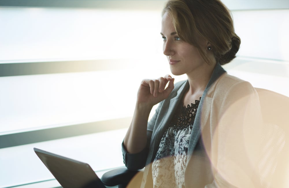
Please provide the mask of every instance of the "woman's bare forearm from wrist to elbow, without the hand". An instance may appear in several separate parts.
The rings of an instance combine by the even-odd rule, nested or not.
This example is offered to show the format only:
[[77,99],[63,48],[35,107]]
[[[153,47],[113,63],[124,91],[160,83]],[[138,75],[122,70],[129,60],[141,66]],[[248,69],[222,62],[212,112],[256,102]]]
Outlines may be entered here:
[[147,145],[147,123],[152,107],[136,103],[132,118],[123,144],[128,153],[139,153]]

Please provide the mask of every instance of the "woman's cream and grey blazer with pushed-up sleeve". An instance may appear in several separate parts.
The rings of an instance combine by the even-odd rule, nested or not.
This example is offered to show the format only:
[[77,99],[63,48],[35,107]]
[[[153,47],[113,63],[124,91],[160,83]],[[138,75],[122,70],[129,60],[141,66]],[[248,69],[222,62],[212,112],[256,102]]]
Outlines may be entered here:
[[[141,187],[152,187],[151,163],[188,81],[175,84],[148,122],[147,148],[137,154],[122,147],[129,170],[145,166]],[[258,94],[244,80],[217,64],[205,88],[190,136],[185,187],[260,187],[257,167],[262,134]]]

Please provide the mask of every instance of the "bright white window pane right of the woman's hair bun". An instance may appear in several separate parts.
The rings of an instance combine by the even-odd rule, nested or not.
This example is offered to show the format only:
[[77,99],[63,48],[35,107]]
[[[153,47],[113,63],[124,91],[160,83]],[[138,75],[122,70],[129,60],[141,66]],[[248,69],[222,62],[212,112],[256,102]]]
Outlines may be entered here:
[[238,56],[289,61],[289,10],[234,11]]

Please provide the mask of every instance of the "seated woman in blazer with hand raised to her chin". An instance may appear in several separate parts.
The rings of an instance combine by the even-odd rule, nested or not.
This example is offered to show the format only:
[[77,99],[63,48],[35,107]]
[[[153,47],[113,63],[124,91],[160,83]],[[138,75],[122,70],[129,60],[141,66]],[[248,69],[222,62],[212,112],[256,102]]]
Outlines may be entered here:
[[258,95],[221,67],[240,46],[229,11],[219,0],[169,0],[161,35],[171,73],[188,80],[142,80],[125,165],[146,166],[142,187],[259,187]]

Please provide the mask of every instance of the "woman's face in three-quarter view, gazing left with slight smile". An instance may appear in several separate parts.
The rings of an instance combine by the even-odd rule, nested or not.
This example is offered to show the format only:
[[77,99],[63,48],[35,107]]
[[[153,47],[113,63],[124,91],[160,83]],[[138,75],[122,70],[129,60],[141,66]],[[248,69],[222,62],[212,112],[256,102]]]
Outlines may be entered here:
[[[167,13],[162,17],[161,35],[164,40],[163,52],[168,58],[173,75],[198,73],[204,66],[208,65],[198,48],[179,38]],[[202,41],[200,46],[206,49],[206,41]]]

